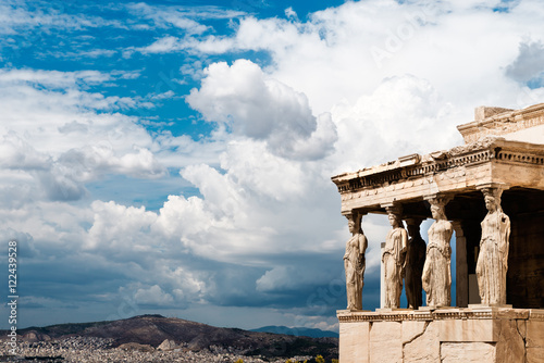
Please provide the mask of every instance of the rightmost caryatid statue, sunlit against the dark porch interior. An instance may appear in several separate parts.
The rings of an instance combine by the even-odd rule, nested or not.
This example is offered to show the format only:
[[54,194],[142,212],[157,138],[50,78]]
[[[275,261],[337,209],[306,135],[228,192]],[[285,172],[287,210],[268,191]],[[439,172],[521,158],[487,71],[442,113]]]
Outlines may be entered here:
[[482,189],[487,215],[482,222],[482,238],[477,262],[478,288],[483,304],[506,304],[506,272],[510,218],[500,208],[502,189]]

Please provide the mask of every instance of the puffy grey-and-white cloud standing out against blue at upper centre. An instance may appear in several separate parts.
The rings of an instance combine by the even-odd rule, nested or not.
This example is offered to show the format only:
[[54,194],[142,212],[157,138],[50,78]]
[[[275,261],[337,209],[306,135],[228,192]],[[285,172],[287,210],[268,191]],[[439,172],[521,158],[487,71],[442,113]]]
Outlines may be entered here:
[[330,116],[317,120],[308,98],[264,75],[246,60],[213,63],[199,90],[187,97],[206,121],[226,124],[234,135],[265,140],[270,150],[295,159],[321,159],[336,141]]

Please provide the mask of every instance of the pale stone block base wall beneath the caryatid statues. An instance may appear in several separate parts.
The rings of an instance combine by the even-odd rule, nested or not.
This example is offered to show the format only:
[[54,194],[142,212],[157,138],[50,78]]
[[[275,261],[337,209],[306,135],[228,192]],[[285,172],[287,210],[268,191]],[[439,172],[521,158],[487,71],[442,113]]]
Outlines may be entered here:
[[544,362],[544,311],[338,311],[341,363]]

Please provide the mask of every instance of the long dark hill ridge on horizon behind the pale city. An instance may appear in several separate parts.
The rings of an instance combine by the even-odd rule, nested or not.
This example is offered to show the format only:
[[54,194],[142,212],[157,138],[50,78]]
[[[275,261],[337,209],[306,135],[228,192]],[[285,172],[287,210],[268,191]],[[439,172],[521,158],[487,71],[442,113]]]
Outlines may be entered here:
[[[0,341],[8,338],[9,330],[0,330]],[[213,350],[222,347],[244,355],[295,356],[317,355],[337,359],[337,338],[310,338],[249,331],[237,328],[219,328],[201,323],[162,315],[139,315],[113,322],[60,324],[46,327],[17,329],[22,340],[41,341],[69,337],[99,337],[113,339],[113,347],[136,342],[157,348],[164,340],[174,340],[189,350]]]

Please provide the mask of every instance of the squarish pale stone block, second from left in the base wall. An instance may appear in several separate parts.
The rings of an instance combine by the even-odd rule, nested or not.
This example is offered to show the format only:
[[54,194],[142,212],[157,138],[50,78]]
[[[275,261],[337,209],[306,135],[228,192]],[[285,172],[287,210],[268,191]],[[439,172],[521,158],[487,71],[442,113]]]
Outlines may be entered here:
[[[371,363],[403,362],[400,322],[375,322],[372,324],[370,328],[369,355]],[[346,361],[342,362],[346,363]]]

